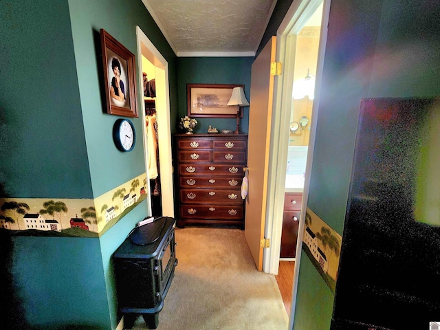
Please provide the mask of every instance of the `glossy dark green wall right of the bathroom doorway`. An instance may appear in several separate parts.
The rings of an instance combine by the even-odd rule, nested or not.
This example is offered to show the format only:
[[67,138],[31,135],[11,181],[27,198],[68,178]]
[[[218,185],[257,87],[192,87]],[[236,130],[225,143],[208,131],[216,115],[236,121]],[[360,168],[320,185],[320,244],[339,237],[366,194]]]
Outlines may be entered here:
[[[307,206],[340,234],[360,100],[440,94],[439,14],[438,1],[331,1]],[[294,329],[329,329],[333,297],[304,253],[299,276]]]

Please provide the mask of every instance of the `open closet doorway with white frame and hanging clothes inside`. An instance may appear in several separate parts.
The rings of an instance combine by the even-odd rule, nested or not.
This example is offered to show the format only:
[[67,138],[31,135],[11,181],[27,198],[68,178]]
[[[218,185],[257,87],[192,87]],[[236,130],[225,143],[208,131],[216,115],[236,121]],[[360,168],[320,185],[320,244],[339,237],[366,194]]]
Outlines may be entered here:
[[146,74],[145,84],[142,74],[138,83],[142,91],[148,215],[174,217],[168,63],[138,26],[136,36],[138,65]]

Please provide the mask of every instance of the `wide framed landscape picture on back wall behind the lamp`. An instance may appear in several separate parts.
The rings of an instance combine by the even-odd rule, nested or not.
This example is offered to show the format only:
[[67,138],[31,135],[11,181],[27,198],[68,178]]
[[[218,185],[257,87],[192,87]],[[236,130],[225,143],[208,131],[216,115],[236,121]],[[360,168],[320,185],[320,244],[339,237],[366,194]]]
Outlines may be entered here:
[[[228,105],[234,87],[244,88],[244,85],[186,85],[188,117],[236,118],[237,107]],[[243,118],[241,107],[240,118]]]

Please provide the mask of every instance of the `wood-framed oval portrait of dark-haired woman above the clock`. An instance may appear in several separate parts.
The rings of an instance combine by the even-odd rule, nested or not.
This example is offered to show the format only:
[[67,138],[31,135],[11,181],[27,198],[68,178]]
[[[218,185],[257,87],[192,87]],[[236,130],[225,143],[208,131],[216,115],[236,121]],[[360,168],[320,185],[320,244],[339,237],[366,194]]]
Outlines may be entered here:
[[104,29],[100,36],[107,113],[138,117],[135,56]]

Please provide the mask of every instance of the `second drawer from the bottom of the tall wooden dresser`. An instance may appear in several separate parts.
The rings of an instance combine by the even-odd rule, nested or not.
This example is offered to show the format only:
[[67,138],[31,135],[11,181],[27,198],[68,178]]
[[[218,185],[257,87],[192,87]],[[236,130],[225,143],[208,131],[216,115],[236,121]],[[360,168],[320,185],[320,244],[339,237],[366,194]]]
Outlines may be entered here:
[[243,204],[239,189],[181,189],[181,203]]

